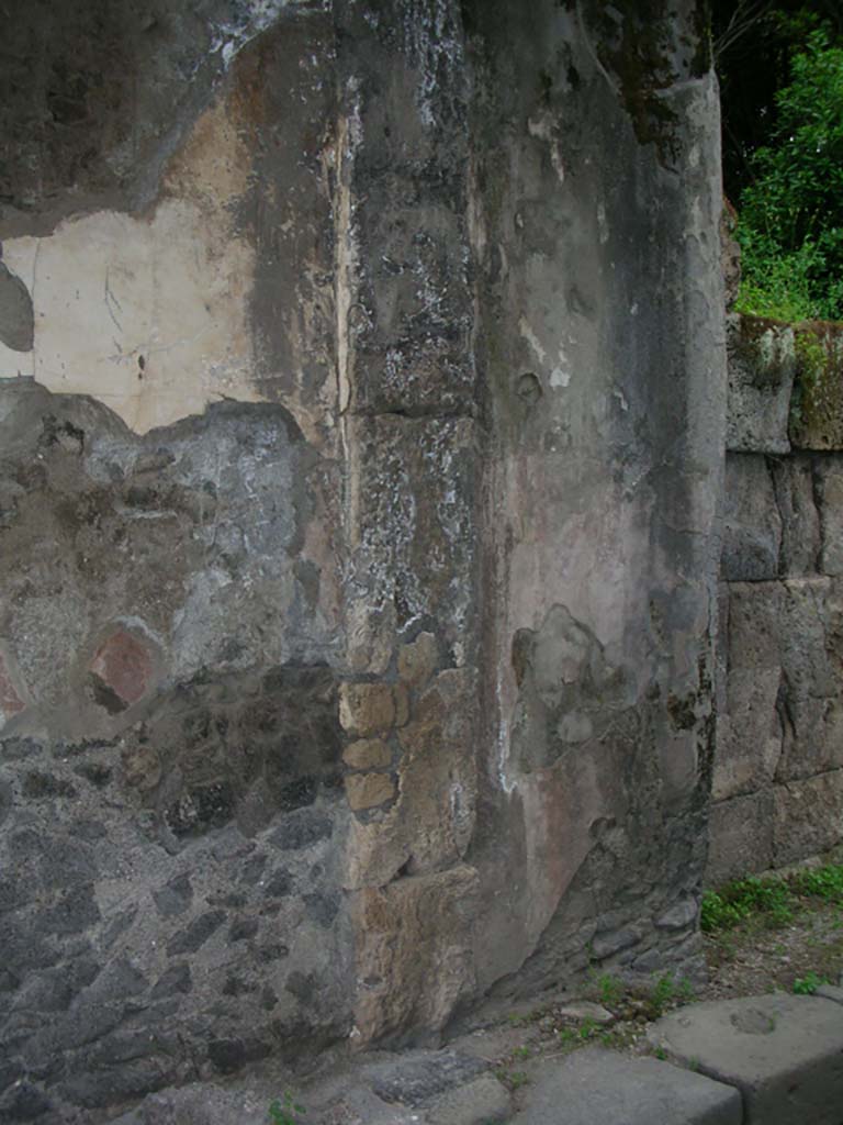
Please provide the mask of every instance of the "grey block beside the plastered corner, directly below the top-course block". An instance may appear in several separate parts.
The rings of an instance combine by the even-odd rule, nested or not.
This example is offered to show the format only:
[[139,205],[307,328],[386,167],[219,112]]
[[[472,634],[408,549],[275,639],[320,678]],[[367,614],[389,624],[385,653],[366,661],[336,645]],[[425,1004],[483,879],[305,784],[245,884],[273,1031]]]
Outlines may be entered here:
[[781,516],[764,457],[726,457],[723,577],[727,582],[777,578]]

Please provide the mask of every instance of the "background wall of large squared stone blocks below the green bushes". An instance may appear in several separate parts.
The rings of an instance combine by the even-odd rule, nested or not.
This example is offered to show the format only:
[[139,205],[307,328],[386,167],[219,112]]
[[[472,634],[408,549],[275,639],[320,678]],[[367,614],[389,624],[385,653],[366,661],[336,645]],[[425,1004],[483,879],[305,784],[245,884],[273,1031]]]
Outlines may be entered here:
[[708,879],[843,840],[840,328],[733,315]]

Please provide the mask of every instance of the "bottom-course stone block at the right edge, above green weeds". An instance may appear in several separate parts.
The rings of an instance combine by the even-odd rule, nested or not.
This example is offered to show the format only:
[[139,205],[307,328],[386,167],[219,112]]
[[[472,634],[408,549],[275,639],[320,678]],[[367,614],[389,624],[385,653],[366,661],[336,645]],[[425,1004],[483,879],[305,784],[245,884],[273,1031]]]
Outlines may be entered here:
[[773,860],[786,866],[843,839],[843,770],[776,785]]

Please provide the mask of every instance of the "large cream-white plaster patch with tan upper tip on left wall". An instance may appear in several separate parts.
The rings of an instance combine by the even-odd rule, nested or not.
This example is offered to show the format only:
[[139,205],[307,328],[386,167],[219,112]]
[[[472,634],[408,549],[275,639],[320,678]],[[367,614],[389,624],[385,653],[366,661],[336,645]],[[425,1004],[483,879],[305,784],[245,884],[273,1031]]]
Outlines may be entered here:
[[254,400],[255,253],[233,228],[248,154],[225,105],[197,122],[148,216],[97,212],[3,244],[35,312],[29,354],[0,345],[0,378],[103,402],[143,433],[223,397]]

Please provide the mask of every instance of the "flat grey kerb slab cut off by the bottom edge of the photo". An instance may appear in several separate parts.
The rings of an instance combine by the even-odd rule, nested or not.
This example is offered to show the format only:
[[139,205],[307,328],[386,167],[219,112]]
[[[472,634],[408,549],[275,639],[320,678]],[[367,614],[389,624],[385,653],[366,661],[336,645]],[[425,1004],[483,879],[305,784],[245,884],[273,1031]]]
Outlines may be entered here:
[[531,1068],[513,1125],[741,1125],[737,1090],[655,1059],[577,1051]]

